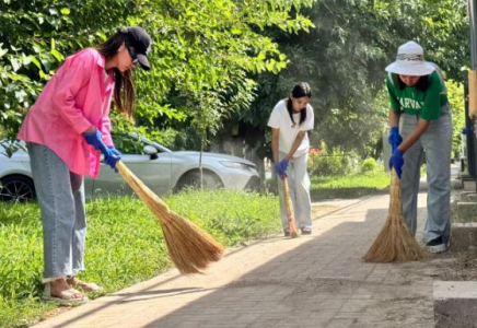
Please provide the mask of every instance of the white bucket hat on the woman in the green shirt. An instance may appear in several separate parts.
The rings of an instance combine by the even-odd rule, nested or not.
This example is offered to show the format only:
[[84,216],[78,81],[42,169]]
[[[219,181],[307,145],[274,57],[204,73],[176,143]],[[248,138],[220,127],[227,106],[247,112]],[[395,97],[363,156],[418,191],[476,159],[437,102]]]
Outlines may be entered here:
[[415,42],[408,42],[397,49],[397,59],[385,68],[387,72],[402,75],[423,77],[432,73],[435,68],[424,61],[422,47]]

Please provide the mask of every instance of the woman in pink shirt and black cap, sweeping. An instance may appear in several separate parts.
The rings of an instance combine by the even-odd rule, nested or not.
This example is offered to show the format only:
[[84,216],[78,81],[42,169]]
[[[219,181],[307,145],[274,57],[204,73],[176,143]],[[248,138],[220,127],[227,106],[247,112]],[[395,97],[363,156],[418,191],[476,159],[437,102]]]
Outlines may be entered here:
[[150,70],[151,42],[143,28],[124,27],[98,47],[68,57],[20,129],[42,210],[45,301],[84,303],[84,293],[101,291],[77,278],[84,271],[83,176],[97,176],[102,154],[113,169],[120,160],[110,138],[110,103],[114,98],[117,110],[132,117],[131,69]]

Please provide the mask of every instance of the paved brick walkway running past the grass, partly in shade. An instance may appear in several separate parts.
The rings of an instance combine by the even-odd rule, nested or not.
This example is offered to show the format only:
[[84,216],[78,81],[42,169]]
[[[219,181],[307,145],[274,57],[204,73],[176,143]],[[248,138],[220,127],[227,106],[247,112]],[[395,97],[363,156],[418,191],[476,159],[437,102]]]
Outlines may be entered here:
[[[426,196],[419,195],[418,232]],[[435,258],[362,260],[387,216],[388,196],[337,203],[315,218],[312,236],[231,249],[206,274],[172,270],[35,327],[433,327]]]

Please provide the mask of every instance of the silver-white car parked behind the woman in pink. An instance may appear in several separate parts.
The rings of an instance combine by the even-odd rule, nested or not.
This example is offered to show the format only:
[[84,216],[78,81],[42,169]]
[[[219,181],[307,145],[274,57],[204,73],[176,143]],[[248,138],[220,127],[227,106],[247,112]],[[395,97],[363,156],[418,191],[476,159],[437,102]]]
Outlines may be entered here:
[[[135,136],[115,141],[115,147],[123,153],[125,165],[159,196],[200,184],[199,152],[174,152],[146,138],[138,141]],[[206,189],[255,190],[260,185],[255,164],[251,161],[208,152],[202,153],[201,161]],[[119,174],[104,163],[101,166],[97,179],[88,176],[84,179],[88,198],[132,194]],[[28,154],[23,150],[11,157],[0,154],[0,200],[32,199],[35,199],[35,187]]]

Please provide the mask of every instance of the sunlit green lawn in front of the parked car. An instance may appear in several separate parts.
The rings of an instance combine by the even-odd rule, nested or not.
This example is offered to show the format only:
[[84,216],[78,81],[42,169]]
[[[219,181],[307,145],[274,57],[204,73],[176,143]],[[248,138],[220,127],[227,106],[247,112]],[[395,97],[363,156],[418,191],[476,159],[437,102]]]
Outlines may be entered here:
[[[185,191],[165,199],[225,246],[281,230],[276,196]],[[136,198],[86,203],[86,272],[81,279],[114,292],[171,268],[158,219]],[[27,327],[55,306],[39,301],[42,224],[36,203],[0,203],[0,327]]]

